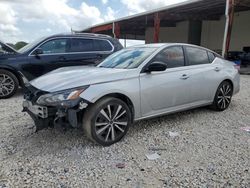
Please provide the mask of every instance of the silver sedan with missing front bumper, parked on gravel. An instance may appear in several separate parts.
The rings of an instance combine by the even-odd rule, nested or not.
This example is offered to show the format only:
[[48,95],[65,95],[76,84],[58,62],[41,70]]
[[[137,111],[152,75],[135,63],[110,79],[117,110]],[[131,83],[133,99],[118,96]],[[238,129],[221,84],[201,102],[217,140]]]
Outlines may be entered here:
[[130,47],[97,67],[66,67],[30,82],[23,103],[37,129],[82,127],[109,146],[142,119],[211,106],[223,111],[239,92],[234,64],[194,45]]

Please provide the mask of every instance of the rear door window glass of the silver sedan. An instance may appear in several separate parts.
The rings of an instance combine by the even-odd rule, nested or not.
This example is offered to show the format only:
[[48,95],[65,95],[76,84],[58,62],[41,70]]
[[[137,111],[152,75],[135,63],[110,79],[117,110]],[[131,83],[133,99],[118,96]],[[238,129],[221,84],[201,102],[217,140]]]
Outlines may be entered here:
[[201,65],[210,63],[206,50],[186,47],[186,51],[189,65]]

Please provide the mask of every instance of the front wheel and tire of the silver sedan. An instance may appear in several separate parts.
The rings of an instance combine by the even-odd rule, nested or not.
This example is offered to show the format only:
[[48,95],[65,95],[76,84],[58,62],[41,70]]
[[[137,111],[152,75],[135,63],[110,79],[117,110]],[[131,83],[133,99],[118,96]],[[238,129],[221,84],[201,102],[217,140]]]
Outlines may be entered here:
[[120,99],[107,97],[87,108],[83,129],[89,139],[110,146],[120,141],[132,123],[131,110]]

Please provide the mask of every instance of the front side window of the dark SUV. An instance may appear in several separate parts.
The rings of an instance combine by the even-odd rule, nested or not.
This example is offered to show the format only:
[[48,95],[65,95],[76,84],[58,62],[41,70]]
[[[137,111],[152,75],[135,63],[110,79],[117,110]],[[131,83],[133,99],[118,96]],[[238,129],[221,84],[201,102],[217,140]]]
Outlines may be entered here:
[[50,40],[41,45],[40,48],[44,54],[65,53],[68,46],[67,41],[67,39]]

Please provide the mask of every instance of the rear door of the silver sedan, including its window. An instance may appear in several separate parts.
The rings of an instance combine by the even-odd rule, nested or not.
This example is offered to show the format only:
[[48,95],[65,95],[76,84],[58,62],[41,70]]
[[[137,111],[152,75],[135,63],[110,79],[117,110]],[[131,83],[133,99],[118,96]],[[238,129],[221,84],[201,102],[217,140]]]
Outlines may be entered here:
[[[212,63],[214,55],[199,47],[185,46],[188,63],[190,86],[190,103],[209,103],[213,100],[221,67]],[[217,70],[218,69],[218,70]]]

